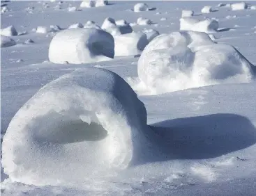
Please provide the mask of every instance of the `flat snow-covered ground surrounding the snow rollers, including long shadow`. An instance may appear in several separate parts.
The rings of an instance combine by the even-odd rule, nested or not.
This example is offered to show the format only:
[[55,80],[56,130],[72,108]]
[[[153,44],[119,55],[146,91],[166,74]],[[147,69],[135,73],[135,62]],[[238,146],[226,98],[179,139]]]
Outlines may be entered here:
[[[153,23],[150,26],[133,26],[135,33],[152,28],[160,34],[169,34],[179,31],[182,10],[193,10],[195,14],[190,18],[204,20],[208,17],[218,21],[218,30],[210,34],[215,42],[234,46],[244,58],[256,65],[256,12],[252,9],[255,1],[246,1],[248,8],[245,10],[232,10],[231,4],[240,1],[110,1],[108,6],[68,12],[68,7],[80,8],[81,2],[1,1],[1,10],[8,8],[1,13],[1,28],[13,25],[18,33],[10,36],[16,45],[1,48],[1,142],[15,113],[40,88],[51,81],[60,80],[58,78],[65,74],[74,74],[77,68],[82,68],[84,72],[87,67],[100,67],[128,81],[143,102],[149,125],[146,130],[153,133],[141,135],[148,136],[151,142],[142,142],[135,154],[140,157],[145,152],[151,152],[151,155],[147,154],[146,158],[142,157],[137,162],[132,161],[125,169],[90,173],[93,176],[84,178],[84,181],[75,179],[68,171],[71,173],[70,179],[80,181],[72,186],[36,186],[12,181],[1,167],[1,195],[255,195],[255,80],[149,95],[149,92],[143,91],[144,87],[138,79],[139,56],[117,56],[100,63],[80,65],[54,64],[48,60],[48,49],[57,31],[46,34],[31,31],[33,28],[36,30],[37,26],[49,28],[54,24],[68,28],[70,24],[85,24],[87,21],[100,25],[107,17],[116,19],[116,25],[119,25],[117,21],[123,19],[132,26],[138,17],[142,17]],[[135,13],[131,9],[136,3],[146,3],[155,9]],[[218,8],[218,11],[201,14],[204,6],[211,6],[214,10]],[[161,18],[166,20],[160,21]],[[63,28],[58,31],[64,31]],[[29,39],[33,43],[25,43]],[[216,50],[219,49],[214,48],[213,52]],[[234,49],[227,47],[225,54],[231,51],[234,52]],[[206,57],[204,53],[202,57]],[[216,60],[216,56],[212,58]],[[64,98],[61,97],[61,100]],[[43,107],[44,110],[46,108]],[[26,144],[26,140],[22,143]],[[29,154],[22,158],[26,157],[30,157]],[[39,168],[40,164],[36,166]],[[78,165],[73,171],[80,167]],[[63,170],[58,167],[57,172],[59,169]],[[44,181],[42,177],[38,180],[38,183]]]

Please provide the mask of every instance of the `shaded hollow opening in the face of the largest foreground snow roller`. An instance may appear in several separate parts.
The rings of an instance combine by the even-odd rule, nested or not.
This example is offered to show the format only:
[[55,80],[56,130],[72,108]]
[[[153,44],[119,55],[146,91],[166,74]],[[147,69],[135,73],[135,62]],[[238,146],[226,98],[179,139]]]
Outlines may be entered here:
[[[47,119],[50,120],[47,122]],[[67,144],[83,141],[97,142],[107,137],[107,130],[98,122],[84,122],[78,118],[73,119],[56,114],[54,117],[48,116],[36,121],[45,124],[36,132],[35,138],[38,141]]]

